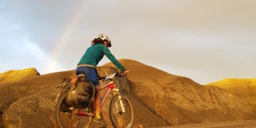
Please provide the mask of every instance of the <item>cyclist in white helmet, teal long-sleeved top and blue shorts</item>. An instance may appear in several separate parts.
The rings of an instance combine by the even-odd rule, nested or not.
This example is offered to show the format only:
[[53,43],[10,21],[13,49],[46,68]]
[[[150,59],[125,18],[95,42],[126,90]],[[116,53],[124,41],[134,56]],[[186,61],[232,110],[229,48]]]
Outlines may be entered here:
[[92,82],[97,89],[97,94],[94,97],[95,104],[95,122],[99,124],[106,124],[100,116],[100,86],[96,66],[103,56],[106,55],[112,63],[121,70],[121,74],[125,74],[125,67],[116,60],[115,56],[111,54],[108,47],[111,47],[111,40],[107,35],[100,34],[97,38],[92,40],[92,46],[84,53],[83,57],[77,64],[76,75],[83,74],[87,80]]

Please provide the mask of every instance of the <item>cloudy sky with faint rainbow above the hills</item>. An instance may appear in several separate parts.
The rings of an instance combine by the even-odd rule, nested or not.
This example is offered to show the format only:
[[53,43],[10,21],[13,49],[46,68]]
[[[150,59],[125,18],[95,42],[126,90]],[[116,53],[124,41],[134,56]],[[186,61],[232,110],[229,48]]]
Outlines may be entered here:
[[[0,72],[73,70],[93,38],[205,84],[256,77],[254,0],[0,0]],[[100,65],[108,63],[104,57]]]

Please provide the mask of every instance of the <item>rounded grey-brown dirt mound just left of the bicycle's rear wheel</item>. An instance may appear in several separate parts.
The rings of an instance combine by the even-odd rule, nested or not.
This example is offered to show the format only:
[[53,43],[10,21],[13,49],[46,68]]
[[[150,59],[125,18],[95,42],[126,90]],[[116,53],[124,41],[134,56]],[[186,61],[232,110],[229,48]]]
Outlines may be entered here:
[[6,109],[3,122],[6,127],[52,127],[56,88],[47,88],[24,97]]

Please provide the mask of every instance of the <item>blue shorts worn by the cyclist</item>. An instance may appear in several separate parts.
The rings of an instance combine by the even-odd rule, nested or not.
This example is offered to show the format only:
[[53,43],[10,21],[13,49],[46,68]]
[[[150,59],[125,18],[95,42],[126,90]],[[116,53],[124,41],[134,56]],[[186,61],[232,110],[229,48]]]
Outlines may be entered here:
[[86,76],[86,79],[93,83],[94,86],[99,86],[99,79],[98,79],[98,73],[97,70],[93,67],[77,67],[76,68],[76,75],[83,74]]

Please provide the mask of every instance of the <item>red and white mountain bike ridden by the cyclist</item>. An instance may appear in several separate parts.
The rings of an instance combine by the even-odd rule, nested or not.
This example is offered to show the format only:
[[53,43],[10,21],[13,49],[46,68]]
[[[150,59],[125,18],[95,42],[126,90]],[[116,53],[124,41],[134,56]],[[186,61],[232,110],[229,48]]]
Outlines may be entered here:
[[[118,80],[116,79],[118,76],[122,77],[122,74],[115,73],[100,78],[100,80],[104,82],[109,81],[108,84],[104,85],[104,88],[100,89],[100,91],[107,89],[100,104],[100,108],[103,106],[109,92],[111,92],[112,99],[109,105],[109,115],[111,122],[116,128],[129,128],[132,126],[133,122],[133,109],[130,100],[125,95],[121,95],[120,93],[120,86]],[[86,109],[76,109],[73,107],[68,108],[64,105],[65,98],[68,94],[68,89],[68,87],[59,88],[59,93],[56,98],[57,102],[55,115],[58,127],[90,127],[92,119],[95,116],[93,102],[91,102]]]

